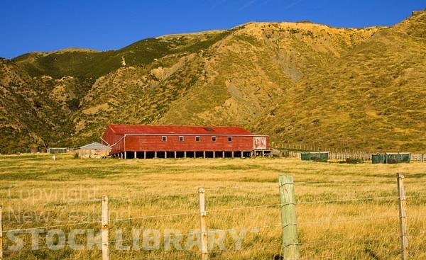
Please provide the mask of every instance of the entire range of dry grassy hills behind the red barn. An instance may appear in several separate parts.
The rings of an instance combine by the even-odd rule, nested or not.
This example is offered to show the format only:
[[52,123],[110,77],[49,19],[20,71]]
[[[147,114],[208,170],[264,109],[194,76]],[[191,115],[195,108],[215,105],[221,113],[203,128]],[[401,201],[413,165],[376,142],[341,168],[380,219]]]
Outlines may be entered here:
[[[390,27],[247,23],[0,60],[0,152],[109,123],[243,125],[274,142],[424,152],[426,13]],[[11,138],[12,137],[12,138]]]

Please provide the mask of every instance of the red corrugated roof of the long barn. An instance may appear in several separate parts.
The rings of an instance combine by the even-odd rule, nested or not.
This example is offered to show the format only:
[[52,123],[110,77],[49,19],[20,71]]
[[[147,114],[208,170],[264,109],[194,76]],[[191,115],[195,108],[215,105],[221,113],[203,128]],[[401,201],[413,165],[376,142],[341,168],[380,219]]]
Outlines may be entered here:
[[108,125],[108,127],[118,135],[251,135],[251,132],[239,126]]

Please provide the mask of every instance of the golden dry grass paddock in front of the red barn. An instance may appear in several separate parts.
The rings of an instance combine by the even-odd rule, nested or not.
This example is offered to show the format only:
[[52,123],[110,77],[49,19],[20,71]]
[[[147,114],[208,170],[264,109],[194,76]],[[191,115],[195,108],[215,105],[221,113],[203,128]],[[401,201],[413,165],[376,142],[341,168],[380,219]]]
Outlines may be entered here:
[[[426,164],[327,164],[266,158],[83,160],[69,154],[53,162],[43,154],[3,156],[0,204],[5,231],[80,223],[45,229],[58,228],[68,239],[70,230],[76,228],[98,232],[100,224],[92,222],[100,220],[98,200],[107,194],[111,198],[111,259],[200,259],[197,247],[165,251],[164,237],[159,249],[142,250],[142,232],[156,229],[164,236],[164,230],[180,230],[180,244],[185,248],[194,237],[190,230],[199,228],[197,187],[204,186],[208,228],[226,231],[228,249],[214,247],[211,258],[271,259],[281,247],[278,175],[292,174],[299,202],[302,259],[399,259],[397,172],[405,174],[405,191],[414,196],[408,198],[410,256],[425,259],[426,197],[419,196],[426,196]],[[262,207],[251,208],[256,205]],[[178,213],[188,214],[172,215]],[[154,215],[168,216],[126,220]],[[132,228],[141,230],[141,249],[117,250],[118,230],[123,230],[123,246],[133,246],[129,241]],[[229,229],[238,234],[248,230],[241,250],[235,250]],[[25,247],[6,251],[6,259],[101,259],[96,246],[87,248],[87,232],[76,237],[77,244],[84,245],[82,250],[68,245],[57,251],[48,249],[45,233],[39,235],[39,249],[31,250],[31,234],[17,237]],[[8,250],[14,243],[6,234],[4,240],[4,250]],[[58,242],[58,236],[53,240]]]

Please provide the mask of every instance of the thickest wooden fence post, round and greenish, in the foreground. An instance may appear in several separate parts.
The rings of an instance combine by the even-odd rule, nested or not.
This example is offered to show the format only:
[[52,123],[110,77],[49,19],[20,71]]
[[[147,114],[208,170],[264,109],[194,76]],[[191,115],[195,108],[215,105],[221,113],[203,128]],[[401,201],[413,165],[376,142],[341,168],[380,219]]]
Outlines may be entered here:
[[278,178],[281,202],[281,225],[283,230],[283,256],[285,260],[300,259],[297,241],[297,220],[293,176]]

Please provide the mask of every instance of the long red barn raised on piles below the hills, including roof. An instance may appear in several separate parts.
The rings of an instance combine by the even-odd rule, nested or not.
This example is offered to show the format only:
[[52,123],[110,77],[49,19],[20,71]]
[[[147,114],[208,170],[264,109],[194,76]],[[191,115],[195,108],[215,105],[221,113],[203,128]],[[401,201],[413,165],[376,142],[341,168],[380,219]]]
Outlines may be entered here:
[[121,158],[251,157],[269,154],[268,136],[241,127],[108,125],[102,144]]

